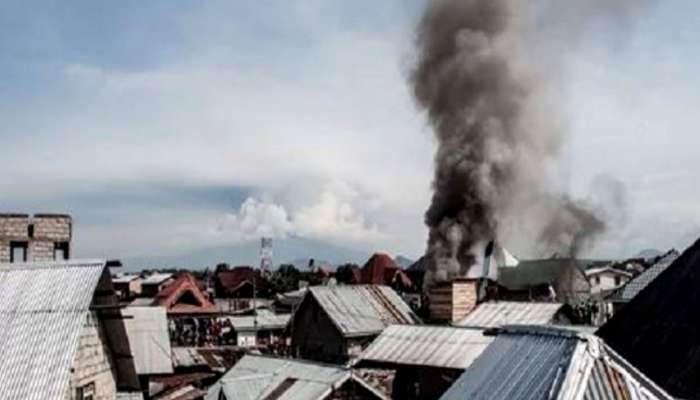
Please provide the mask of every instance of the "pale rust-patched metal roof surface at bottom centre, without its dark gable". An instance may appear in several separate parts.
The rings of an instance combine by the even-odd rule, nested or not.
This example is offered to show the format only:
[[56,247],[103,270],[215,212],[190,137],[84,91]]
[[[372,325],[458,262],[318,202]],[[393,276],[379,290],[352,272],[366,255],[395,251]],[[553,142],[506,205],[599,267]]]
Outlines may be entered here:
[[246,355],[209,389],[207,400],[219,400],[222,392],[226,400],[256,400],[275,389],[275,399],[314,400],[349,377],[350,370],[343,367]]

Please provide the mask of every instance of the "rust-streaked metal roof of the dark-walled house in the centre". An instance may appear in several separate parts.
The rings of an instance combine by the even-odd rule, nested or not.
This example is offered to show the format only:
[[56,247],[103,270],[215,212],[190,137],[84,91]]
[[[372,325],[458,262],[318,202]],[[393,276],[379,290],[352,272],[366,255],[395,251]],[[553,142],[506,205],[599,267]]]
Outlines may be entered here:
[[345,336],[376,334],[388,325],[420,322],[408,304],[387,286],[314,286],[309,293]]

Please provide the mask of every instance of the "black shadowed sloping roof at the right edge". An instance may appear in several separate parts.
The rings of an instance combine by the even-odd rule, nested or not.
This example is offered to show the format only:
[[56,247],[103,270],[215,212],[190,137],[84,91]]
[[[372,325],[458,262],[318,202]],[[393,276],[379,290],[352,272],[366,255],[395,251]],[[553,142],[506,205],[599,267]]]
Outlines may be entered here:
[[700,241],[608,320],[598,335],[680,398],[700,398]]

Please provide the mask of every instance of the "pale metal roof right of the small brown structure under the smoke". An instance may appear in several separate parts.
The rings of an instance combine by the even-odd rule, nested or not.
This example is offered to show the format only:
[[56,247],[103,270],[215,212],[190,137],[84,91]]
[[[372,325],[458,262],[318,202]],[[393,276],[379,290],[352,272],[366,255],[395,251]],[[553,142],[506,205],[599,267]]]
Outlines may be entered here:
[[493,301],[480,304],[455,325],[484,328],[504,325],[547,325],[554,321],[563,306],[561,303]]

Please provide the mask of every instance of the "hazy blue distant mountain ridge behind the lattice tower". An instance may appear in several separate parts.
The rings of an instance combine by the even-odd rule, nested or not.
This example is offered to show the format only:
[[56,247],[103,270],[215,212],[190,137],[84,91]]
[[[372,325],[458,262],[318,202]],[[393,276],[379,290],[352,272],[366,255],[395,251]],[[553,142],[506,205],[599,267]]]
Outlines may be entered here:
[[[316,265],[337,266],[344,263],[364,264],[371,253],[338,246],[321,240],[287,238],[273,240],[273,264],[294,264],[306,269],[308,260],[313,258]],[[144,268],[214,268],[216,264],[236,265],[260,264],[260,241],[250,240],[230,246],[212,246],[192,250],[187,253],[169,256],[138,256],[121,259],[125,271],[138,271]]]

